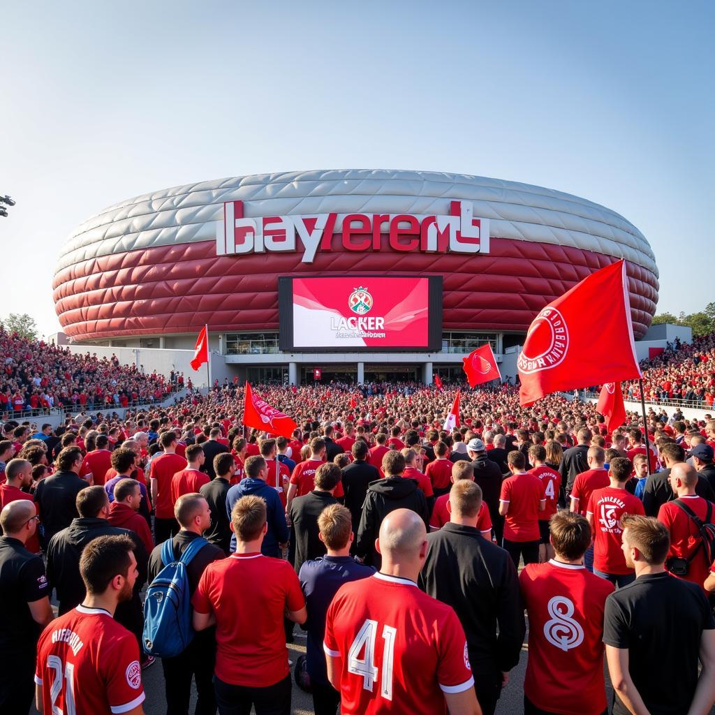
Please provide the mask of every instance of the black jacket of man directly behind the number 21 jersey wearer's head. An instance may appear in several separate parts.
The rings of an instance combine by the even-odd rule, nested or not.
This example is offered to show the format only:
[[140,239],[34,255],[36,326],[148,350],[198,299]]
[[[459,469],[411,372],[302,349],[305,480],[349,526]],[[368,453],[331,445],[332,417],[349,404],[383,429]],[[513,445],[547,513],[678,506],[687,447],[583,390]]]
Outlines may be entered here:
[[[59,615],[79,606],[84,599],[84,581],[79,575],[79,557],[82,549],[98,536],[118,536],[127,534],[134,541],[134,558],[137,559],[137,583],[135,594],[142,590],[147,580],[147,550],[134,531],[112,526],[107,519],[99,517],[79,517],[67,527],[58,531],[47,547],[47,579],[50,588],[57,592]],[[121,604],[120,604],[121,605]]]

